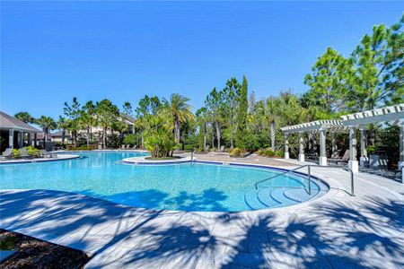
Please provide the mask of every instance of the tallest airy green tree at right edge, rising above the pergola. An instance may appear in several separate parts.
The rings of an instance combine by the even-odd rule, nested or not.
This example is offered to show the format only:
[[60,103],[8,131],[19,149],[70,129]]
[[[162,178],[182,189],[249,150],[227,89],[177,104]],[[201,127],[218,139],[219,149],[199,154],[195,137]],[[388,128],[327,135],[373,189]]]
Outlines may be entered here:
[[390,100],[402,102],[404,91],[404,41],[402,20],[392,28],[373,26],[364,35],[353,57],[357,65],[358,89],[354,92],[356,109],[373,109]]

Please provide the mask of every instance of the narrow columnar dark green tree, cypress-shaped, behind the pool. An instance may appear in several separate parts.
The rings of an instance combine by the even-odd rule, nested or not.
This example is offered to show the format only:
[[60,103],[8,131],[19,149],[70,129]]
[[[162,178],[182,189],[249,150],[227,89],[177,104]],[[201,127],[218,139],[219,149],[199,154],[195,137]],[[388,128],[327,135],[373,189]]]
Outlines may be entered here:
[[246,133],[247,133],[247,112],[248,112],[248,82],[245,75],[242,77],[242,87],[238,92],[239,108],[237,112],[237,134],[236,145],[239,148],[245,149],[246,147]]

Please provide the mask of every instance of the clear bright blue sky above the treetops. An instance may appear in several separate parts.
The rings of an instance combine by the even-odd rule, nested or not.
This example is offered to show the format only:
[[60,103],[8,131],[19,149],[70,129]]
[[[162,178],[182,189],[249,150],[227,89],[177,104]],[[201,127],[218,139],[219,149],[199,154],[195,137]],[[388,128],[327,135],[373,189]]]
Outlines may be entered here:
[[347,56],[402,2],[2,2],[1,110],[57,117],[77,96],[121,108],[179,92],[195,108],[246,74],[266,97],[306,90],[327,47]]

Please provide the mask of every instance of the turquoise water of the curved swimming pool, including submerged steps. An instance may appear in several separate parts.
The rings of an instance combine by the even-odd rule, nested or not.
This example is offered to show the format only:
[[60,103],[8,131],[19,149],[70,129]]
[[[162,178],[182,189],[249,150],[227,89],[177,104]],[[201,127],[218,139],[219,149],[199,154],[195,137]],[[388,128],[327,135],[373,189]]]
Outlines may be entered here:
[[140,152],[80,152],[81,159],[0,165],[0,188],[39,188],[91,195],[119,204],[182,211],[239,212],[297,204],[326,191],[320,182],[288,175],[255,183],[280,173],[196,163],[126,165]]

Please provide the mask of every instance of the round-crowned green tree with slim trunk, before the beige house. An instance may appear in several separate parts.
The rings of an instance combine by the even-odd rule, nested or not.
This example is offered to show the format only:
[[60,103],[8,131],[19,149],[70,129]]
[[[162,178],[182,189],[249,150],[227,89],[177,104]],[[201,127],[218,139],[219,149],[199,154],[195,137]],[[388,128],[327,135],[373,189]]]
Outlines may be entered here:
[[102,128],[102,147],[107,147],[107,130],[119,120],[119,108],[110,100],[98,101],[95,105],[98,125]]

